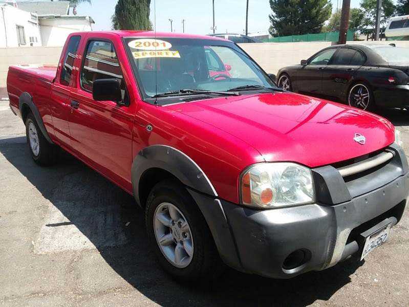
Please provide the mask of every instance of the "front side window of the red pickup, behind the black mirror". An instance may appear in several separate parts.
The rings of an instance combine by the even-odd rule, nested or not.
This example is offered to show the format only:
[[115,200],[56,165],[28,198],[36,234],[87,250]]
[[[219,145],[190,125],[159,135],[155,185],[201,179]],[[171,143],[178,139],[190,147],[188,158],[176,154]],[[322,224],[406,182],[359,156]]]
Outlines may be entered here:
[[[109,41],[91,40],[85,50],[81,69],[81,86],[92,92],[92,85],[98,79],[119,79],[121,89],[124,82],[114,45]],[[122,96],[123,97],[123,96]]]

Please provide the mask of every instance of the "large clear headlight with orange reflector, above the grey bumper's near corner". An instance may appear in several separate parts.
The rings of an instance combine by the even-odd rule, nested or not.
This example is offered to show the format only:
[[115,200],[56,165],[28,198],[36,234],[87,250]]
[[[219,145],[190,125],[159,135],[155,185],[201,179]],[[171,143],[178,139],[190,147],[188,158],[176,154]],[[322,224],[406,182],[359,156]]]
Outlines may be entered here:
[[315,200],[311,170],[295,163],[260,163],[241,176],[243,205],[277,208]]

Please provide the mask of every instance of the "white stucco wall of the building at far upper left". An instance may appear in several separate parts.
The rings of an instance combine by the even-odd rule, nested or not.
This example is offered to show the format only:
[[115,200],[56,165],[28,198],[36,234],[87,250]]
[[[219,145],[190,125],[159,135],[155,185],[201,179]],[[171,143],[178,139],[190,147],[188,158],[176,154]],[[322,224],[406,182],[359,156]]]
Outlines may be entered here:
[[37,37],[37,42],[34,41],[32,46],[41,46],[40,29],[36,17],[30,12],[10,5],[2,5],[0,6],[0,48],[19,46],[16,25],[24,27],[26,45],[21,47],[30,47],[30,36]]

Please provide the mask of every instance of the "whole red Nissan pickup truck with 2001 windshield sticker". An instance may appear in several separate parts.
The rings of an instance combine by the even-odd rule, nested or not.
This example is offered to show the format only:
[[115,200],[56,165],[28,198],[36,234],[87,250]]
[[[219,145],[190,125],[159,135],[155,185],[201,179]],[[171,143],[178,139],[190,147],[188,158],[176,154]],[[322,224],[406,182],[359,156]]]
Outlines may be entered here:
[[62,148],[134,195],[181,279],[362,260],[408,200],[389,121],[283,91],[221,38],[73,33],[56,68],[10,67],[7,89],[34,161]]

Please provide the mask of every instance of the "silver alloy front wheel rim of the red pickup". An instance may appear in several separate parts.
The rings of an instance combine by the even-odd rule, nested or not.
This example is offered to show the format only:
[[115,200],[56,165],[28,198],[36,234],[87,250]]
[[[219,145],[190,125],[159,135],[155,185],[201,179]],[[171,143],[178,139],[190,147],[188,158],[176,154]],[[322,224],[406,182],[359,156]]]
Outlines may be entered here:
[[193,237],[185,216],[173,204],[161,203],[154,214],[156,242],[175,267],[187,267],[193,258]]

